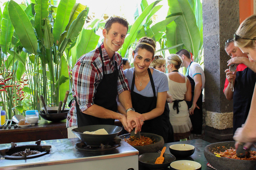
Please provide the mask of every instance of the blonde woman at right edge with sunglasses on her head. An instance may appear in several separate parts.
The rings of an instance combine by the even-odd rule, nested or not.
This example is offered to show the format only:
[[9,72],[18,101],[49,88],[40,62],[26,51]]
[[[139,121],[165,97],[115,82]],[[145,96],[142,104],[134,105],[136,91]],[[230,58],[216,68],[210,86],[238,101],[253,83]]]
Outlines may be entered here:
[[[256,61],[256,15],[245,19],[234,35],[234,44],[249,57],[251,62]],[[234,134],[234,140],[239,142],[256,141],[256,90],[254,89],[251,107],[242,128],[238,128]],[[250,147],[250,143],[245,144],[245,148]]]

